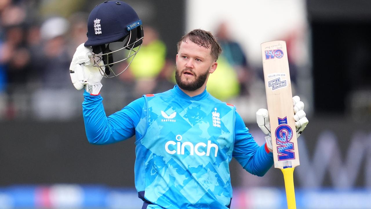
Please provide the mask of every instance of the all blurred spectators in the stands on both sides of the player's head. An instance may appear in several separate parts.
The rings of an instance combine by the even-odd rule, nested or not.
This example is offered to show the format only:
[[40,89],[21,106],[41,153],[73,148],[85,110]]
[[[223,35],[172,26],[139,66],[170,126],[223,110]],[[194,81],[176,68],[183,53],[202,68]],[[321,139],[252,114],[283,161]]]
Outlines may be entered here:
[[[0,120],[80,118],[82,92],[72,86],[68,69],[76,47],[87,39],[89,11],[81,12],[84,0],[68,0],[71,7],[66,8],[60,2],[0,0]],[[60,9],[56,13],[51,8]],[[238,98],[251,96],[259,75],[254,75],[243,48],[228,32],[224,23],[215,31],[223,54],[207,89],[218,99],[238,103]],[[102,82],[107,114],[175,83],[175,59],[167,59],[167,46],[158,31],[145,25],[144,33],[129,69]],[[264,99],[264,87],[260,89]]]

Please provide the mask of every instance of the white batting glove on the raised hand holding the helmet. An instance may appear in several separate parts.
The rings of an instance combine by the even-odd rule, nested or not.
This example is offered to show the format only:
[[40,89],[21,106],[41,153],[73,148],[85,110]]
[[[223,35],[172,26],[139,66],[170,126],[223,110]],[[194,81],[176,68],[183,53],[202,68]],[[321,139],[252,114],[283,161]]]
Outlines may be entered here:
[[[92,50],[90,47],[85,47],[84,44],[79,45],[70,64],[70,76],[73,86],[77,90],[85,87],[85,90],[90,94],[98,95],[102,88],[101,80],[103,75],[99,67],[93,66],[93,62],[90,60],[91,55]],[[104,65],[103,61],[101,61],[100,65]],[[104,66],[102,70],[105,70]]]

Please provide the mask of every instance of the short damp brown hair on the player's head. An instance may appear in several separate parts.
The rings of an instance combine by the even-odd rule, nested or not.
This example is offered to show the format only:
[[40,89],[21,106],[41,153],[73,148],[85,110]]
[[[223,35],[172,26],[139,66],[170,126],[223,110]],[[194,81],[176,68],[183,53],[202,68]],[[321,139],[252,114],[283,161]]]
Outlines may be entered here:
[[207,49],[211,48],[211,56],[218,60],[221,54],[221,47],[216,38],[211,34],[211,32],[201,29],[192,30],[191,32],[185,34],[178,42],[178,51],[180,44],[185,42],[186,39],[196,43],[198,46],[203,46]]

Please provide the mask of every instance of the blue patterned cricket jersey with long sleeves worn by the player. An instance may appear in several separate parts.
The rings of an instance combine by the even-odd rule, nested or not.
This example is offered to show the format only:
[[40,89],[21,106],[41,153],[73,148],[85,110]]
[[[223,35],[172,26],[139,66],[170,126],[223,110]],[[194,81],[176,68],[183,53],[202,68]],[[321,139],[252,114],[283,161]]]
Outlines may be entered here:
[[229,208],[232,157],[263,176],[273,154],[257,145],[233,105],[206,90],[189,97],[178,86],[147,94],[106,117],[103,98],[84,92],[86,136],[110,144],[136,136],[135,187],[143,208]]

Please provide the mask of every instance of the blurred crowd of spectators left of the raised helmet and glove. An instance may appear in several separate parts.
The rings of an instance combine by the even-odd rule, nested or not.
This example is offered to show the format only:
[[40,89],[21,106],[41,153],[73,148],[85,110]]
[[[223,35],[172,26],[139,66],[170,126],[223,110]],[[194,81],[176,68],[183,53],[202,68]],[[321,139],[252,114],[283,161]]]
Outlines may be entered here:
[[68,101],[73,96],[63,90],[70,89],[68,68],[76,46],[86,39],[87,15],[56,16],[48,8],[52,4],[55,1],[0,0],[2,119],[73,115],[65,106],[72,105]]

